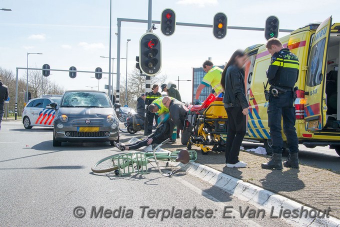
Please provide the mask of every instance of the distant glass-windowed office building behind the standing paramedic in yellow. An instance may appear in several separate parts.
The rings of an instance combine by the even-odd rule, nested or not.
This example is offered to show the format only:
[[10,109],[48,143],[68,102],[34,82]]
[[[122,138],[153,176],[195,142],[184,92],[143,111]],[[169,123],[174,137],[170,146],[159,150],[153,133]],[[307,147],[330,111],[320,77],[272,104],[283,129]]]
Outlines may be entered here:
[[[215,65],[217,67],[220,67],[221,69],[224,68],[225,65]],[[193,67],[192,68],[192,99],[191,99],[191,103],[194,103],[194,97],[195,97],[195,93],[197,90],[198,85],[200,84],[200,82],[202,81],[204,75],[206,74],[206,72],[203,70],[203,67]],[[202,92],[199,95],[199,100],[203,101],[207,98],[207,96],[211,93],[211,86],[205,86],[202,89]]]

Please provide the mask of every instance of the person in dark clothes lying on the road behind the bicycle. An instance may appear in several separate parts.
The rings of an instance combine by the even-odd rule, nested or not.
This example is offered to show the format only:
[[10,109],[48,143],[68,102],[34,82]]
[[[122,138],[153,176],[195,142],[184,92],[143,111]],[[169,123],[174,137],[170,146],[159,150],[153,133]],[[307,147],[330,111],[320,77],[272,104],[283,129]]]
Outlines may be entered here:
[[[168,115],[168,113],[167,113]],[[158,124],[159,125],[159,124]],[[146,136],[146,138],[139,140],[137,142],[131,143],[131,144],[123,144],[118,142],[113,142],[115,147],[117,147],[119,150],[130,150],[130,149],[138,149],[142,146],[154,144],[154,143],[161,143],[165,139],[167,139],[169,136],[169,129],[170,129],[170,122],[167,117],[164,117],[164,121],[154,130],[151,134]]]

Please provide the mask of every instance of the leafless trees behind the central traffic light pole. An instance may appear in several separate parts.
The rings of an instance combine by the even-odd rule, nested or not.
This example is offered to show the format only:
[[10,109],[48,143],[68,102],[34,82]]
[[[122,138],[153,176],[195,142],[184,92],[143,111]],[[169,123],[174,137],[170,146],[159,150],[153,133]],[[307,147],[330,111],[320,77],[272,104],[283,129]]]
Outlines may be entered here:
[[[166,74],[158,74],[156,76],[151,76],[151,86],[152,84],[162,84],[166,81]],[[145,92],[145,76],[140,75],[138,69],[133,69],[127,74],[127,105],[131,108],[135,108],[137,105],[137,98],[141,93]],[[125,80],[122,79],[120,82],[120,93],[119,101],[125,103]]]

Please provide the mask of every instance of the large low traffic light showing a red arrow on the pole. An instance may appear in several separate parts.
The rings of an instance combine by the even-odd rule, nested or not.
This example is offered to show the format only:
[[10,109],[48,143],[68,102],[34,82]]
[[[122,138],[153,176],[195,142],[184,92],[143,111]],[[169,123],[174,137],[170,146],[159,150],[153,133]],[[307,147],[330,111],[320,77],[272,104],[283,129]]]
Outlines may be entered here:
[[139,40],[139,67],[149,76],[156,75],[161,67],[161,42],[157,35],[148,32]]

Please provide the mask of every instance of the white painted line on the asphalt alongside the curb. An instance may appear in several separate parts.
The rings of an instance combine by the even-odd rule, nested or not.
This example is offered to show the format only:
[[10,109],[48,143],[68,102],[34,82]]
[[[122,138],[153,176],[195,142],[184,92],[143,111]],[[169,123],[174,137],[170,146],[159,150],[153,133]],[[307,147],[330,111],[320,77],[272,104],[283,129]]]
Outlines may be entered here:
[[[208,200],[212,200],[214,202],[217,203],[218,206],[221,207],[221,209],[223,210],[224,209],[224,206],[226,205],[224,202],[218,200],[217,198],[213,197],[212,195],[206,193],[205,191],[199,189],[198,187],[196,187],[195,185],[187,182],[185,179],[181,178],[180,176],[178,177],[173,177],[175,178],[176,180],[178,180],[180,183],[182,183],[184,186],[188,187],[190,190],[196,192],[197,194],[199,195],[203,195],[203,197],[205,197],[206,199]],[[233,213],[239,213],[239,210],[237,209],[233,209]],[[241,222],[243,222],[244,224],[246,224],[247,226],[251,226],[251,227],[261,227],[262,225],[256,223],[255,221],[247,218],[246,216],[244,216],[243,218],[239,219]]]

